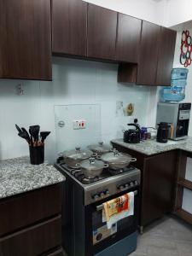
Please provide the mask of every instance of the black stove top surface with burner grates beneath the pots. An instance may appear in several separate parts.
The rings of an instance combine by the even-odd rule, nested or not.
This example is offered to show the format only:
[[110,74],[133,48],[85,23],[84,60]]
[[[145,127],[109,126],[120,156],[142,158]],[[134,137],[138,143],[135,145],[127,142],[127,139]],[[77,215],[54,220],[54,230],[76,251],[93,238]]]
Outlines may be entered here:
[[135,167],[133,166],[128,166],[123,169],[119,170],[113,170],[113,169],[105,169],[102,174],[99,176],[86,176],[84,175],[84,172],[82,172],[80,169],[73,169],[69,166],[67,166],[65,163],[59,164],[62,169],[66,170],[69,172],[73,177],[75,177],[77,180],[79,180],[80,183],[83,184],[90,184],[90,183],[96,183],[98,181],[101,181],[105,178],[112,177],[115,175],[123,174],[125,172],[131,172],[132,170],[135,170]]

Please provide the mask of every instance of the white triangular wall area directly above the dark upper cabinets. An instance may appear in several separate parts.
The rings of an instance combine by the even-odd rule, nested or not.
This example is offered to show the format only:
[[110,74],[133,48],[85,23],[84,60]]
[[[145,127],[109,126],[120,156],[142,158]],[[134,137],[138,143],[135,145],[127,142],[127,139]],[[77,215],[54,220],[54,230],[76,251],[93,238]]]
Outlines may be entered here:
[[125,15],[163,25],[166,14],[166,0],[84,0],[104,8],[113,9]]

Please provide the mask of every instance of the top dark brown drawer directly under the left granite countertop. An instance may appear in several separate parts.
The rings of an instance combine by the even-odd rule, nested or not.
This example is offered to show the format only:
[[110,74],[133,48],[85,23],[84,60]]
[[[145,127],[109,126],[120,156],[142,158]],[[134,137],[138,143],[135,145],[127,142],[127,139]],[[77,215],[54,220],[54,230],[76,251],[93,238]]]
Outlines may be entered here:
[[62,183],[0,201],[0,236],[61,212]]

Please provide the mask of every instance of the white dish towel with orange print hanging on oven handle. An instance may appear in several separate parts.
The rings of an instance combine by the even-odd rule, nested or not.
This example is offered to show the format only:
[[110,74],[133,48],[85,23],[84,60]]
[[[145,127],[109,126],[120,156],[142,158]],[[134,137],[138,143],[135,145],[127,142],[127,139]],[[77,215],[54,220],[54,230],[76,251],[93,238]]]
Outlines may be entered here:
[[102,222],[107,222],[108,229],[120,219],[134,214],[134,192],[121,195],[102,204]]

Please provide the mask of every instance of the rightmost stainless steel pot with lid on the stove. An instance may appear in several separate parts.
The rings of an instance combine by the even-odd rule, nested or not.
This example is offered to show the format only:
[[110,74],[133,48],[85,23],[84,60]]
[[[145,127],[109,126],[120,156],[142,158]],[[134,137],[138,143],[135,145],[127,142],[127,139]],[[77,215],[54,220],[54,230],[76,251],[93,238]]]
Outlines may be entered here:
[[132,158],[130,154],[120,153],[118,150],[113,149],[113,152],[102,154],[97,156],[105,163],[108,163],[109,168],[118,170],[129,166],[131,162],[137,161],[136,158]]

